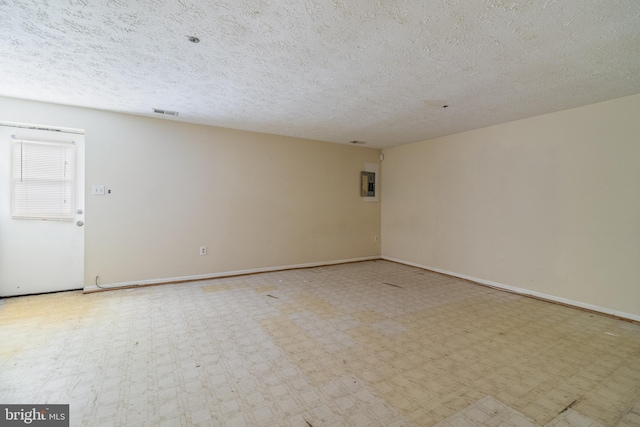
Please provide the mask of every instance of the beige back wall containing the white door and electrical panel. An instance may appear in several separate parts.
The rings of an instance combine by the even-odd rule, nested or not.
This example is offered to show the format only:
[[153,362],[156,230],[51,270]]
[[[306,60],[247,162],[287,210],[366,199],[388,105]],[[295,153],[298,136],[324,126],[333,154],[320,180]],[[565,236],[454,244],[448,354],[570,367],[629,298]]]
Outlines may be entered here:
[[380,150],[7,98],[0,120],[86,130],[86,284],[380,254]]

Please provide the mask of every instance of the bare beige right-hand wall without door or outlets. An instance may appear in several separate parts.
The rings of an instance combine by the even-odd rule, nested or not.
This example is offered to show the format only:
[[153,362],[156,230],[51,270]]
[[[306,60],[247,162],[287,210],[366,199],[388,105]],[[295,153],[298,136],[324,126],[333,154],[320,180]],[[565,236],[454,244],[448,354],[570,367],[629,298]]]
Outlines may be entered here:
[[383,256],[640,315],[639,113],[635,95],[384,150]]

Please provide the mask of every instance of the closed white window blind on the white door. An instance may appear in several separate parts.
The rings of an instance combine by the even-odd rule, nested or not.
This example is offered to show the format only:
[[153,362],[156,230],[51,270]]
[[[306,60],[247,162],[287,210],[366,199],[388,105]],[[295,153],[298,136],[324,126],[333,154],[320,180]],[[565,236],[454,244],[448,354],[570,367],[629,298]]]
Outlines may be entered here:
[[11,142],[11,216],[73,221],[75,145],[70,142]]

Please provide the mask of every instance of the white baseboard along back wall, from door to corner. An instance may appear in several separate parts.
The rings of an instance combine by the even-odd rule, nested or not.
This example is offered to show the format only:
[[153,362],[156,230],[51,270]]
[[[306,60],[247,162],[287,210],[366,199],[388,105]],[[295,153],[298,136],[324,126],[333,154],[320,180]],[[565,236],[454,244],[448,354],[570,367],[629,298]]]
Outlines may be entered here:
[[325,265],[347,264],[350,262],[371,261],[375,259],[380,259],[380,256],[375,255],[375,256],[369,256],[369,257],[339,259],[339,260],[333,260],[333,261],[310,262],[306,264],[280,265],[276,267],[252,268],[249,270],[224,271],[220,273],[200,274],[196,276],[170,277],[170,278],[151,279],[151,280],[136,280],[132,282],[109,283],[109,284],[103,284],[100,286],[89,285],[84,287],[83,292],[85,294],[88,294],[92,292],[101,292],[101,291],[110,290],[110,289],[131,288],[136,286],[163,285],[167,283],[190,282],[190,281],[196,281],[196,280],[209,280],[209,279],[217,279],[220,277],[244,276],[246,274],[267,273],[270,271],[295,270],[298,268],[309,268],[309,267],[322,267]]

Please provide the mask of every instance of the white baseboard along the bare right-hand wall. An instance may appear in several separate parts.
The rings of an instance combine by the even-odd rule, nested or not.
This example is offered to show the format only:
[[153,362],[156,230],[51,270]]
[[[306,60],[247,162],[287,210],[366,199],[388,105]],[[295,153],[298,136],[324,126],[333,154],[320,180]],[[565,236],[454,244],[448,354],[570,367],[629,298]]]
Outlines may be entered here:
[[381,258],[385,259],[387,261],[397,262],[399,264],[410,265],[412,267],[418,267],[418,268],[422,268],[424,270],[429,270],[429,271],[433,271],[433,272],[436,272],[436,273],[446,274],[447,276],[453,276],[453,277],[458,277],[460,279],[470,280],[472,282],[480,283],[481,285],[487,285],[487,286],[491,286],[491,287],[498,288],[498,289],[504,289],[504,290],[507,290],[507,291],[510,291],[510,292],[513,292],[513,293],[516,293],[516,294],[520,294],[520,295],[532,296],[532,297],[540,298],[540,299],[543,299],[543,300],[558,302],[558,303],[561,303],[561,304],[566,304],[566,305],[570,305],[570,306],[574,306],[574,307],[584,308],[586,310],[596,311],[598,313],[604,313],[604,314],[608,314],[608,315],[611,315],[611,316],[621,317],[623,319],[628,319],[628,320],[633,320],[635,322],[640,322],[640,316],[635,315],[635,314],[631,314],[631,313],[625,313],[623,311],[612,310],[610,308],[605,308],[605,307],[598,307],[597,305],[587,304],[587,303],[580,302],[580,301],[574,301],[574,300],[570,300],[570,299],[567,299],[567,298],[561,298],[561,297],[557,297],[555,295],[543,294],[542,292],[531,291],[529,289],[523,289],[523,288],[517,288],[515,286],[503,285],[502,283],[492,282],[490,280],[478,279],[477,277],[465,276],[464,274],[458,274],[458,273],[454,273],[452,271],[442,270],[440,268],[435,268],[435,267],[429,267],[429,266],[426,266],[426,265],[417,264],[415,262],[410,262],[410,261],[404,261],[404,260],[397,259],[397,258],[392,258],[392,257],[387,257],[387,256],[382,256]]

